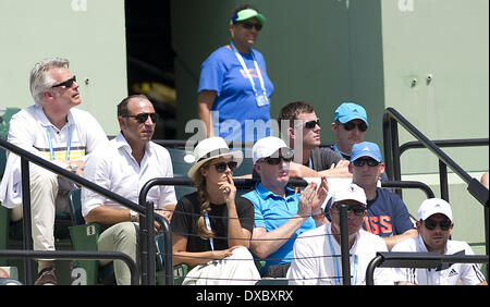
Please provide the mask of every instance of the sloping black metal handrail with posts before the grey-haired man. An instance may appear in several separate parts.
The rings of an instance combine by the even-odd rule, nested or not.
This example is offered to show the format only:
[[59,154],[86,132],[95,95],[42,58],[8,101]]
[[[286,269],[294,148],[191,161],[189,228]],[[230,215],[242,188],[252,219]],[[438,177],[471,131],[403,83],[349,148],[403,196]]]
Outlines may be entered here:
[[[103,195],[105,197],[112,199],[115,202],[121,204],[125,208],[128,208],[131,210],[134,210],[138,212],[140,216],[146,217],[147,210],[146,207],[142,207],[138,204],[135,204],[109,189],[106,189],[93,182],[89,182],[88,180],[81,177],[63,168],[58,167],[57,164],[51,163],[48,160],[45,160],[25,149],[22,149],[21,147],[17,147],[5,139],[0,138],[0,147],[5,148],[7,150],[11,151],[11,154],[15,154],[20,156],[21,158],[21,172],[22,172],[22,185],[23,185],[23,210],[24,210],[24,217],[23,217],[23,225],[24,225],[24,248],[26,250],[33,249],[33,238],[32,238],[32,229],[30,229],[30,195],[29,195],[29,171],[28,171],[28,162],[33,162],[44,169],[47,169],[53,173],[57,173],[59,175],[62,175],[63,177],[66,177],[68,180],[81,185],[85,186],[86,188],[94,191],[95,193],[98,193],[100,195]],[[150,225],[152,228],[152,225]],[[144,235],[147,232],[140,232],[139,238],[143,242],[146,242],[146,237]],[[149,231],[151,233],[151,231]],[[140,255],[144,255],[146,253],[143,253],[142,250],[143,246],[140,246],[139,251]],[[143,284],[150,284],[152,280],[155,280],[155,272],[148,272],[146,270],[148,258],[140,257],[142,260],[142,283]],[[34,278],[32,273],[32,262],[28,260],[25,260],[25,274],[26,274],[26,283],[33,284]],[[152,277],[152,279],[151,279]]]

